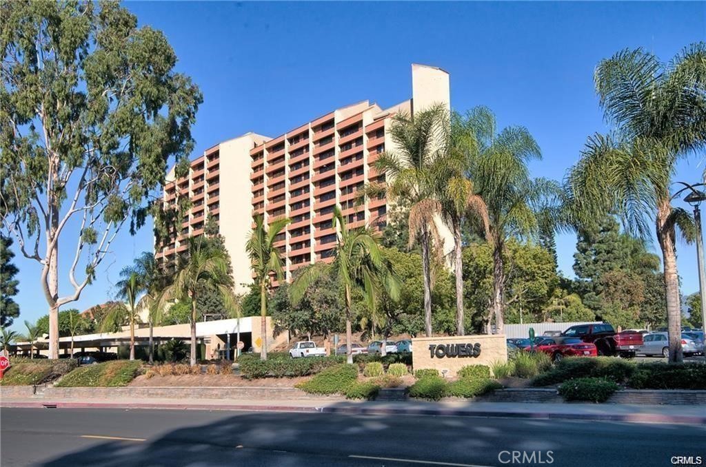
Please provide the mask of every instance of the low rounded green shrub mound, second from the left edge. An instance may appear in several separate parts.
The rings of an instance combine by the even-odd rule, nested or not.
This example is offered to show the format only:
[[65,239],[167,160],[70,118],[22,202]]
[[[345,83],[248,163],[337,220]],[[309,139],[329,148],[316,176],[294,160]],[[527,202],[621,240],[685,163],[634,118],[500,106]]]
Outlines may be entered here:
[[142,362],[116,360],[76,368],[56,384],[58,387],[127,386],[140,374]]

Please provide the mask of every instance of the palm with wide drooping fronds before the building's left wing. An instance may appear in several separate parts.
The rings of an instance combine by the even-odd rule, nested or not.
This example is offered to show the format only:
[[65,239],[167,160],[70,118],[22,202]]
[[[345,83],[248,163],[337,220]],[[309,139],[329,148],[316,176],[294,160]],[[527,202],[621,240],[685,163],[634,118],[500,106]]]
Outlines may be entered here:
[[233,293],[233,278],[228,274],[228,254],[219,248],[201,248],[201,243],[189,238],[189,255],[174,274],[172,284],[160,293],[155,305],[164,310],[170,301],[188,300],[191,303],[191,365],[196,365],[196,302],[201,293],[215,289],[229,313],[237,307]]

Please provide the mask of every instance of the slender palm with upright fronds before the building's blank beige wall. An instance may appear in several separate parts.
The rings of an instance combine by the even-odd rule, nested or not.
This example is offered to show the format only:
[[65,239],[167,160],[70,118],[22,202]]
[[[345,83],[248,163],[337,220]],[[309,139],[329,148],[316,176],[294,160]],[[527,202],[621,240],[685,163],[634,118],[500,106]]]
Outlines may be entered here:
[[255,273],[255,282],[260,289],[261,339],[260,359],[267,360],[267,298],[271,276],[281,281],[284,277],[280,250],[275,247],[277,235],[289,224],[290,219],[277,219],[269,228],[261,214],[253,217],[255,226],[250,233],[246,250],[250,257],[250,267]]

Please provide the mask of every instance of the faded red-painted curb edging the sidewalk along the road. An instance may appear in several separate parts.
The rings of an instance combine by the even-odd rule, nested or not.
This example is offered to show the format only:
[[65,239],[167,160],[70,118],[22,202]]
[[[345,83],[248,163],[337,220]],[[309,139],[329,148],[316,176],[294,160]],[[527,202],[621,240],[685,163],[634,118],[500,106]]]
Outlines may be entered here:
[[397,407],[330,407],[330,406],[259,406],[248,404],[164,404],[135,403],[114,404],[101,402],[66,401],[2,401],[0,408],[137,408],[164,410],[209,410],[248,412],[298,412],[332,413],[340,415],[402,415],[402,416],[446,416],[481,418],[524,418],[530,420],[600,420],[628,423],[663,423],[683,425],[706,425],[706,416],[671,416],[659,413],[561,413],[561,412],[512,412],[512,411],[467,411],[453,408],[397,408]]

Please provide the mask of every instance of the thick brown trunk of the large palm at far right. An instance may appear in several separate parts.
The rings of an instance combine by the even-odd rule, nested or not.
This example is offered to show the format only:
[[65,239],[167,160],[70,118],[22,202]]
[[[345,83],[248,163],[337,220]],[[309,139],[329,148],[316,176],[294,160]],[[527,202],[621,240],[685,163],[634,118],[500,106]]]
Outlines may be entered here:
[[683,361],[681,349],[681,305],[679,303],[679,277],[676,270],[676,233],[674,227],[664,229],[671,213],[669,198],[657,206],[657,239],[662,248],[664,263],[664,286],[666,288],[666,320],[669,334],[669,362]]

